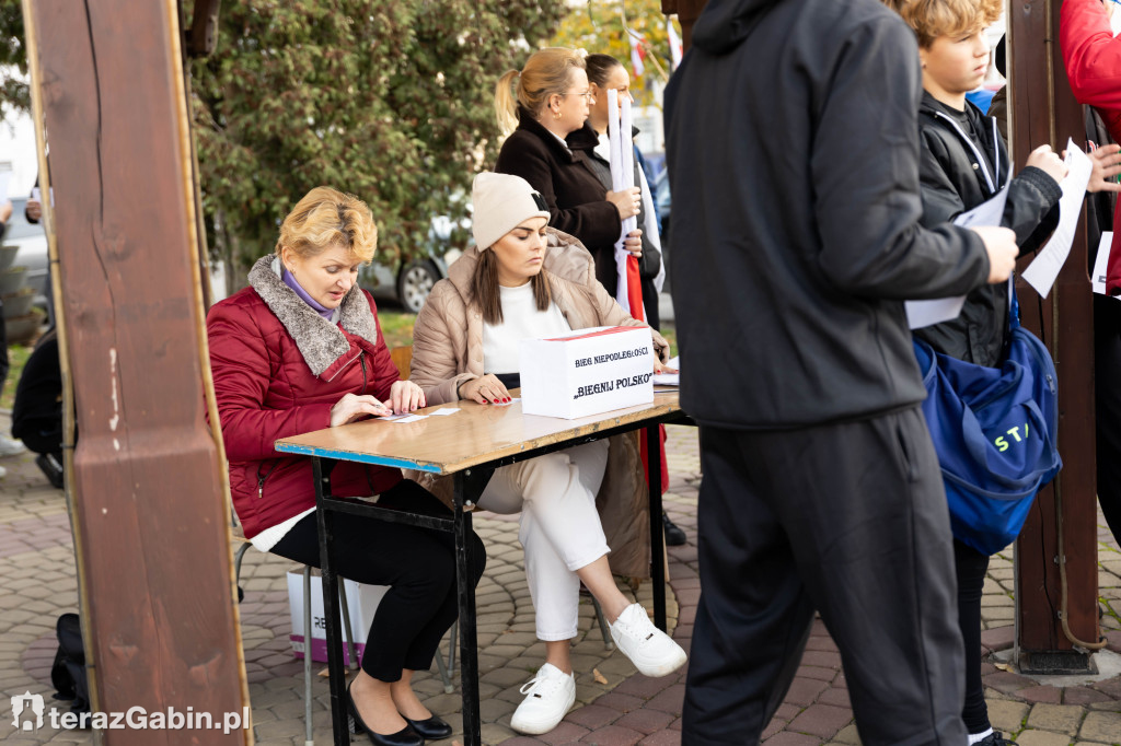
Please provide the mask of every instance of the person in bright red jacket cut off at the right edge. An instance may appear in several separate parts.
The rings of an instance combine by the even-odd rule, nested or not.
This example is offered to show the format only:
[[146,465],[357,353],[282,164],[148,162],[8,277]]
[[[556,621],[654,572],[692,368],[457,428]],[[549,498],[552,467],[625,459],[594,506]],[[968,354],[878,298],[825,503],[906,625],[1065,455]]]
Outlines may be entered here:
[[[1121,142],[1121,38],[1114,38],[1113,2],[1065,0],[1059,16],[1059,46],[1071,90],[1080,103],[1094,106],[1113,140]],[[1113,211],[1105,290],[1121,293],[1121,211]],[[1096,246],[1091,246],[1095,250]],[[1121,541],[1121,307],[1094,297],[1094,386],[1096,399],[1097,502],[1114,538]]]

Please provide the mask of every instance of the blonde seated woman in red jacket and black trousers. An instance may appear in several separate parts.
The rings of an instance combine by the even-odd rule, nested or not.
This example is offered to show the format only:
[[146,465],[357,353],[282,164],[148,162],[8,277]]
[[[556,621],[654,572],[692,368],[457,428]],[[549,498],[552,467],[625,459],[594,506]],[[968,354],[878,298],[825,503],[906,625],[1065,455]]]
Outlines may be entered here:
[[[257,261],[250,287],[215,304],[206,319],[230,489],[245,537],[261,551],[319,566],[311,459],[274,442],[368,416],[415,410],[424,392],[398,380],[370,293],[355,280],[377,245],[369,207],[328,187],[312,189],[280,226],[276,253]],[[399,469],[340,463],[340,496],[444,513]],[[478,537],[473,581],[485,551]],[[452,728],[417,699],[413,672],[427,670],[456,616],[450,534],[350,516],[333,541],[339,574],[390,586],[370,625],[362,670],[348,690],[355,722],[374,744],[423,746]]]

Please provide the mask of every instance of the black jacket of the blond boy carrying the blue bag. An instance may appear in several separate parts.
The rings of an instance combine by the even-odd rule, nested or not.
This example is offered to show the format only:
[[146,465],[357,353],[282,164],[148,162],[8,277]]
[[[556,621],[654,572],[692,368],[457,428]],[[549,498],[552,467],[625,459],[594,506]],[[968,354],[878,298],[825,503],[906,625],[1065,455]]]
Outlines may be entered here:
[[[1058,184],[1045,171],[1027,167],[1008,180],[1010,161],[995,120],[965,102],[965,115],[980,142],[935,101],[923,94],[919,109],[923,225],[953,221],[993,197],[1008,183],[1001,225],[1016,232],[1020,253],[1038,249],[1058,224]],[[952,321],[916,332],[930,346],[957,360],[993,367],[1003,358],[1008,330],[1007,286],[984,285],[969,293],[961,315]]]

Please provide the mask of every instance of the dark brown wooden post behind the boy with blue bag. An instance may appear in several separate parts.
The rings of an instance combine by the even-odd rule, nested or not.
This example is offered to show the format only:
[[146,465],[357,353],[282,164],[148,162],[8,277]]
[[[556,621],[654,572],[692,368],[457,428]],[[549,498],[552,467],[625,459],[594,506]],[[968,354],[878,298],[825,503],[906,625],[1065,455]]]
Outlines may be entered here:
[[[1022,0],[1009,8],[1010,134],[1018,168],[1043,143],[1062,151],[1073,137],[1085,147],[1083,110],[1063,67],[1058,22],[1059,0]],[[1086,671],[1088,654],[1071,637],[1099,638],[1093,308],[1085,227],[1083,214],[1071,257],[1046,300],[1018,286],[1023,325],[1050,347],[1059,385],[1063,470],[1040,491],[1016,544],[1020,668],[1044,673]],[[1030,260],[1021,259],[1019,269]]]

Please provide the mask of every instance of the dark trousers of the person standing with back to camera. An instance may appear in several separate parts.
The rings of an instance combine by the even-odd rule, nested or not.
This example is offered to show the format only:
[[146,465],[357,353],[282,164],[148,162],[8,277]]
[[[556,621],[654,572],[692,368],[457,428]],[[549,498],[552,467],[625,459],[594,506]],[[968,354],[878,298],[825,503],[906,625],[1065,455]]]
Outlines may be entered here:
[[918,408],[786,431],[701,428],[701,600],[682,744],[758,744],[814,610],[862,743],[965,743],[949,515]]

